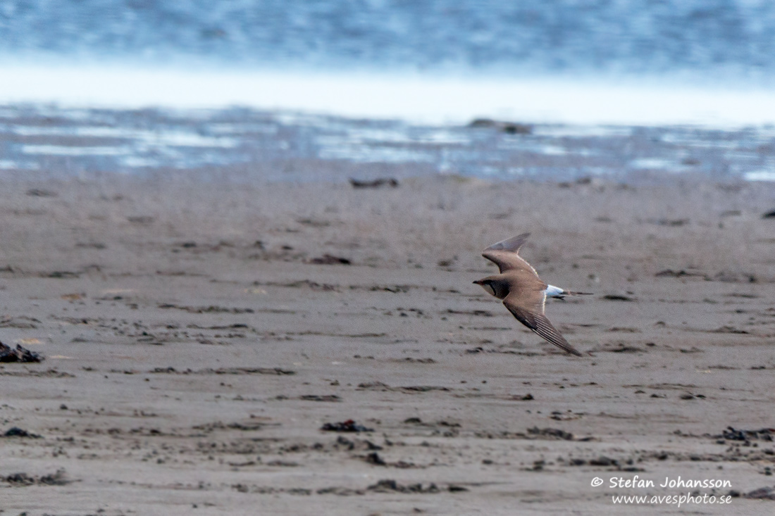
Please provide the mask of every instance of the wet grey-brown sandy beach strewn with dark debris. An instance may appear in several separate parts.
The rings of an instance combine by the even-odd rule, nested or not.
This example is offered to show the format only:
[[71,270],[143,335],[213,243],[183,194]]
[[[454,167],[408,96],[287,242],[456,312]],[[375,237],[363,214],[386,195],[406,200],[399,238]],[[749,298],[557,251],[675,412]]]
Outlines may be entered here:
[[[4,181],[0,209],[0,340],[46,356],[0,365],[0,431],[40,436],[0,437],[8,514],[775,507],[746,497],[775,486],[773,184],[114,176]],[[471,284],[523,231],[594,292],[546,308],[583,358]],[[687,492],[740,496],[611,501]]]

